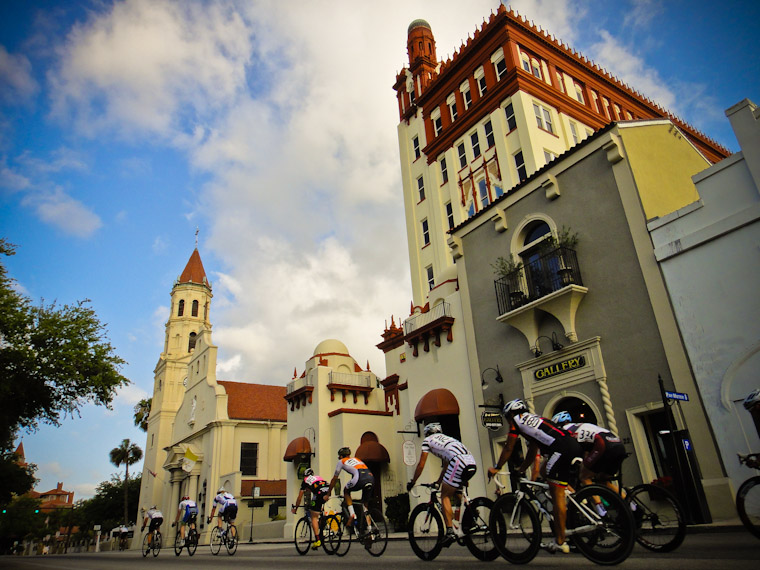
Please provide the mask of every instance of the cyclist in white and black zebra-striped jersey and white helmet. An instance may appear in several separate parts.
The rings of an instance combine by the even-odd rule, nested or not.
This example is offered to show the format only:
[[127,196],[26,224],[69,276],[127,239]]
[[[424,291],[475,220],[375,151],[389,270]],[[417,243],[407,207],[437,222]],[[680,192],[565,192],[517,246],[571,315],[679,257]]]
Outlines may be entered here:
[[451,497],[467,481],[472,479],[478,468],[475,465],[475,458],[470,455],[467,448],[459,440],[444,435],[441,430],[441,424],[438,422],[427,424],[423,433],[425,439],[422,440],[420,461],[417,463],[417,468],[414,470],[414,475],[412,476],[412,480],[407,484],[406,490],[411,491],[415,481],[422,474],[428,453],[432,453],[441,459],[443,469],[441,469],[441,475],[438,477],[438,486],[441,488],[443,518],[446,522],[446,536],[443,537],[442,544],[448,547],[457,539],[452,525],[454,514],[451,509]]

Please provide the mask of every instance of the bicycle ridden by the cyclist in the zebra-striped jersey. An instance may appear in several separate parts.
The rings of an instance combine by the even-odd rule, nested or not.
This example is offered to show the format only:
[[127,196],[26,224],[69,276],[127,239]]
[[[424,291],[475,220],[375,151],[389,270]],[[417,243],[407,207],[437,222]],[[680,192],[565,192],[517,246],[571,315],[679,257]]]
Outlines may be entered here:
[[[443,549],[445,532],[443,506],[438,500],[438,484],[422,483],[430,491],[430,500],[420,503],[409,515],[409,543],[414,553],[422,560],[435,559]],[[467,549],[478,560],[490,562],[496,560],[499,552],[491,539],[488,529],[490,511],[493,501],[487,497],[470,500],[467,487],[457,491],[461,497],[459,508],[454,510],[454,532],[457,544]],[[419,497],[419,495],[414,495]]]

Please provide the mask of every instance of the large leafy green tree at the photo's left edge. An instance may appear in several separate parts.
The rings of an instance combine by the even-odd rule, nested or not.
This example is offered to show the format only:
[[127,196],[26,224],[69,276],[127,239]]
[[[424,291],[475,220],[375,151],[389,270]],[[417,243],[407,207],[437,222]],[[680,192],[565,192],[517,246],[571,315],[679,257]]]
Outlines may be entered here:
[[[0,254],[15,253],[0,238]],[[110,408],[129,384],[123,365],[88,301],[34,306],[0,263],[0,449],[10,450],[19,429],[60,425],[88,402]]]

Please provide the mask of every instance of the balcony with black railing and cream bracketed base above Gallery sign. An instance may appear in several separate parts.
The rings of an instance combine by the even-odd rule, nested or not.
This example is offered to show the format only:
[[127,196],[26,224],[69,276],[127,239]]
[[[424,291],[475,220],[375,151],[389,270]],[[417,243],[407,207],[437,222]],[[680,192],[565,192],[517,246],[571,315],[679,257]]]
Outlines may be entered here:
[[575,313],[588,292],[583,286],[575,250],[551,249],[494,281],[498,320],[522,332],[530,346],[538,338],[539,309],[562,323],[565,336],[576,341]]

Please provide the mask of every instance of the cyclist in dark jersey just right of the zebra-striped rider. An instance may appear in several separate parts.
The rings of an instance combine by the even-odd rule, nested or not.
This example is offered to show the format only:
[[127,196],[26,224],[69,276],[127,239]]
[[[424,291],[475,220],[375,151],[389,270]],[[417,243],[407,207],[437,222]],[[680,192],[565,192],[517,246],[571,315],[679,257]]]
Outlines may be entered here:
[[565,488],[570,478],[572,462],[583,454],[583,450],[571,434],[551,420],[529,412],[525,402],[520,399],[507,402],[503,414],[509,422],[509,436],[496,465],[488,469],[488,477],[490,479],[501,470],[512,455],[520,435],[529,442],[529,446],[525,460],[518,467],[519,471],[525,471],[533,463],[538,451],[547,456],[548,459],[541,466],[541,471],[551,490],[555,536],[547,548],[550,552],[568,554],[570,546],[565,542]]

